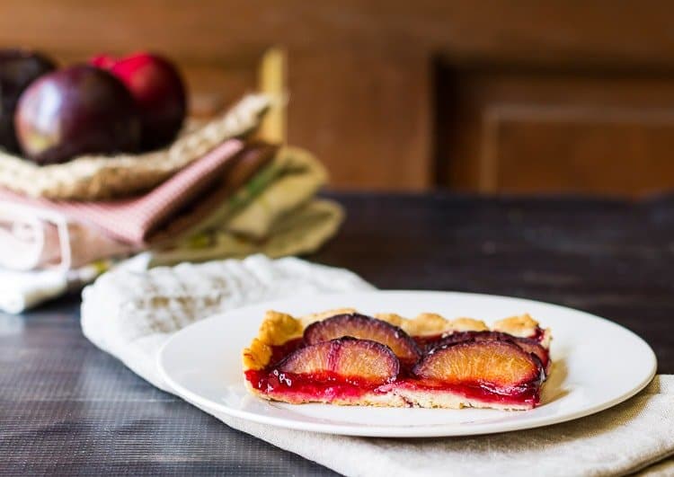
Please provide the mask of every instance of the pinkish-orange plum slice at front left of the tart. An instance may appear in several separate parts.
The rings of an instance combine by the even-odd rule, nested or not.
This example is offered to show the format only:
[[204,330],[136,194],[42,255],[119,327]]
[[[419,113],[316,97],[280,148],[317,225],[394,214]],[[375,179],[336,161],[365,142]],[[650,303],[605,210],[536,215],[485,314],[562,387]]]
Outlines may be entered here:
[[336,375],[347,381],[385,384],[395,380],[400,362],[391,349],[377,341],[341,338],[297,349],[277,368],[281,373]]

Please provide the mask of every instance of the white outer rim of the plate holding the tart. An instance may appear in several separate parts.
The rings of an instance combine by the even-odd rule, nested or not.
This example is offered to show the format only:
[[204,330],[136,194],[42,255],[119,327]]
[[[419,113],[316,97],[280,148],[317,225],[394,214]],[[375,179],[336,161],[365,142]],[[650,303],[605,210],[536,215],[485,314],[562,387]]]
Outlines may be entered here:
[[[623,332],[631,335],[631,338],[639,342],[644,349],[649,352],[651,358],[651,369],[647,374],[647,377],[644,377],[642,382],[634,386],[632,390],[627,393],[623,393],[619,396],[616,396],[614,399],[607,402],[600,402],[590,408],[582,409],[579,411],[571,412],[567,415],[564,415],[563,418],[554,417],[554,416],[541,416],[537,420],[528,421],[524,426],[521,422],[514,420],[511,422],[501,423],[497,429],[494,429],[493,423],[487,422],[483,425],[474,424],[471,426],[465,426],[462,424],[448,424],[443,423],[437,426],[423,425],[423,426],[411,426],[411,427],[386,427],[386,426],[377,426],[377,425],[368,425],[368,426],[358,426],[356,424],[326,424],[326,423],[315,423],[307,422],[303,420],[288,420],[287,418],[279,418],[273,416],[263,416],[261,414],[251,412],[251,411],[240,411],[222,403],[213,403],[210,400],[203,398],[198,393],[192,392],[190,389],[185,388],[182,384],[177,383],[169,372],[164,368],[164,355],[166,350],[172,346],[174,340],[178,340],[179,335],[181,335],[186,330],[197,328],[200,326],[208,326],[208,322],[220,319],[226,314],[232,313],[242,313],[247,309],[259,308],[261,306],[273,306],[275,304],[286,303],[290,300],[296,299],[297,297],[287,297],[281,298],[278,300],[265,301],[253,305],[245,305],[239,308],[228,310],[226,312],[220,312],[217,314],[211,314],[206,318],[203,318],[197,322],[193,322],[188,326],[185,326],[179,331],[173,333],[173,335],[164,342],[162,347],[158,350],[155,356],[155,366],[159,372],[159,375],[164,380],[164,383],[168,385],[171,392],[175,393],[182,399],[187,402],[191,402],[193,405],[200,407],[203,410],[208,410],[211,413],[223,413],[228,416],[232,416],[242,420],[249,420],[251,422],[256,422],[259,424],[265,424],[272,427],[278,428],[287,428],[294,430],[305,430],[310,432],[317,432],[322,434],[333,434],[341,436],[353,436],[353,437],[461,437],[461,436],[479,436],[486,434],[494,434],[500,432],[512,432],[516,430],[527,430],[531,428],[542,428],[545,426],[551,426],[554,424],[561,424],[563,422],[568,422],[571,420],[578,420],[592,414],[596,414],[601,411],[606,411],[621,402],[625,402],[628,399],[634,397],[637,393],[643,391],[643,389],[652,382],[653,377],[657,374],[658,361],[655,352],[652,347],[646,340],[643,340],[634,331],[626,328],[625,326],[608,320],[602,316],[596,314],[590,314],[589,312],[579,310],[577,308],[572,308],[565,305],[557,305],[550,302],[544,302],[541,300],[534,300],[530,298],[522,298],[519,296],[504,296],[504,295],[492,295],[492,294],[483,294],[483,293],[473,293],[473,292],[460,292],[460,291],[442,291],[442,290],[412,290],[412,289],[385,289],[385,290],[362,290],[362,291],[353,291],[353,292],[335,292],[335,293],[322,293],[317,294],[313,297],[315,298],[327,298],[331,296],[365,296],[365,295],[382,295],[382,294],[430,294],[430,295],[444,295],[444,296],[472,296],[474,298],[497,298],[497,299],[508,299],[516,300],[519,302],[527,302],[536,305],[545,305],[552,306],[564,311],[572,311],[577,314],[586,315],[586,317],[594,320],[599,320],[605,324],[620,329]],[[422,430],[424,429],[424,430]],[[441,430],[442,429],[442,430]],[[406,430],[406,431],[405,431]]]

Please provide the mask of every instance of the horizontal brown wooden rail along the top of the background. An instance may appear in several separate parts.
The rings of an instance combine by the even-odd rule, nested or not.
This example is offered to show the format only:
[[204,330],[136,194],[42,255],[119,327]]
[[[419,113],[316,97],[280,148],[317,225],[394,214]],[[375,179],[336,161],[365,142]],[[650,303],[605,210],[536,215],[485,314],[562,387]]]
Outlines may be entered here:
[[[386,48],[398,43],[469,61],[577,66],[669,66],[674,16],[664,0],[4,0],[0,43],[81,49],[171,48],[181,57],[230,60],[281,42]],[[244,57],[250,56],[248,52]],[[670,66],[669,66],[670,67]]]

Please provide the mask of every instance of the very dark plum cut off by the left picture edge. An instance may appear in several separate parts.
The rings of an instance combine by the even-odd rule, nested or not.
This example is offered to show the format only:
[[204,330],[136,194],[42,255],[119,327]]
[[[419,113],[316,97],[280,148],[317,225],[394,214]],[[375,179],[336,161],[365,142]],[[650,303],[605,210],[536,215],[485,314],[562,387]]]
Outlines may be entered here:
[[23,91],[56,66],[48,57],[27,49],[0,49],[0,146],[19,154],[14,110]]

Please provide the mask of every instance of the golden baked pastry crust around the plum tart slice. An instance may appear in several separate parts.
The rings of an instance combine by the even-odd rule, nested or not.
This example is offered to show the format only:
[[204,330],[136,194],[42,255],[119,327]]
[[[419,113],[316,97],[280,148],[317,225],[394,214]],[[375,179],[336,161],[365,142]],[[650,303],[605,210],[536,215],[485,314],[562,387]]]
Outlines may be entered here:
[[[250,346],[243,351],[244,373],[247,371],[260,371],[270,366],[270,359],[274,347],[279,347],[291,340],[302,338],[307,326],[314,322],[338,314],[353,314],[357,311],[353,308],[339,308],[316,314],[294,317],[277,311],[268,311],[258,335],[253,339]],[[538,322],[529,314],[511,316],[494,322],[490,329],[487,324],[474,318],[460,317],[448,319],[439,314],[423,313],[415,318],[407,319],[399,314],[374,314],[378,320],[393,324],[413,337],[424,336],[448,336],[458,331],[501,331],[516,337],[529,338],[537,336],[537,340],[545,349],[549,349],[552,340],[550,329],[542,330]],[[274,400],[268,393],[262,393],[253,387],[248,379],[244,379],[246,387],[263,399]],[[424,407],[424,408],[450,408],[460,409],[463,407],[492,408],[503,410],[526,410],[531,405],[519,405],[517,403],[481,402],[459,396],[456,393],[435,393],[420,391],[418,389],[389,385],[380,387],[377,393],[365,393],[357,399],[334,399],[331,403],[342,405],[374,405],[387,407]]]

